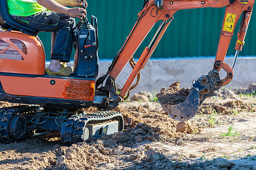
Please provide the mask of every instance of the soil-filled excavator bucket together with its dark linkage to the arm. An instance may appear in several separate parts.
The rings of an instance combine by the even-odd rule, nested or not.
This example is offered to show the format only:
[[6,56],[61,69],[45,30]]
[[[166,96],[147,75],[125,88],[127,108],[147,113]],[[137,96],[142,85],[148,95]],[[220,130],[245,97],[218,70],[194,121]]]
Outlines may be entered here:
[[[222,65],[226,66],[224,62],[220,62],[220,66]],[[219,72],[220,71],[217,69],[212,69],[209,71],[208,75],[202,75],[199,79],[193,80],[189,94],[188,90],[184,90],[184,88],[180,89],[179,87],[177,88],[179,83],[175,82],[170,86],[170,88],[168,88],[168,90],[165,88],[160,90],[161,92],[156,95],[159,96],[158,101],[162,105],[164,111],[174,118],[174,120],[189,120],[196,115],[199,106],[207,97],[214,96],[214,91],[219,90],[221,86],[224,86],[232,80],[233,76],[229,75],[233,75],[233,72],[227,71],[227,76],[222,80],[220,79]],[[168,94],[168,92],[172,92],[173,94]],[[176,94],[182,97],[179,98],[175,96]],[[170,99],[172,101],[170,101]]]

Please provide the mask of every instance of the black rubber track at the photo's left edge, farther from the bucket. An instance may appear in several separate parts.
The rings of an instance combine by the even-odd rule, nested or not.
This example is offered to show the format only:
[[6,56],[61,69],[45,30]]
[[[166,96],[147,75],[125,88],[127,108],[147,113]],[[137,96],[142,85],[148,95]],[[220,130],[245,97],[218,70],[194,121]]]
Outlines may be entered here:
[[11,122],[11,118],[18,113],[33,113],[37,111],[39,111],[39,107],[34,105],[0,108],[0,141],[3,143],[19,141],[19,139],[11,139],[9,136],[9,124]]

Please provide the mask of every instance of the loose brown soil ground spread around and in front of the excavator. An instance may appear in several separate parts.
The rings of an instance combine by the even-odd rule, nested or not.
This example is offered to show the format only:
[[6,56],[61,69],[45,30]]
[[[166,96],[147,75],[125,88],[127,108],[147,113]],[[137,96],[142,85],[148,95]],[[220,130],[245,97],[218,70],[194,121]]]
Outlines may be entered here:
[[185,122],[153,101],[124,102],[115,111],[125,130],[90,143],[65,146],[57,132],[1,143],[0,169],[256,169],[255,95],[222,90]]

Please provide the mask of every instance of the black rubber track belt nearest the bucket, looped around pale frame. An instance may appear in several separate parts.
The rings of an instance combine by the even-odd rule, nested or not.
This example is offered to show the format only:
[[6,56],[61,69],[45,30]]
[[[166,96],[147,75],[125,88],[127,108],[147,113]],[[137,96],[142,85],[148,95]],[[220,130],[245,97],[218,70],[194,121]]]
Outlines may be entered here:
[[[115,111],[98,111],[92,114],[71,116],[68,121],[63,125],[65,126],[65,128],[62,127],[61,129],[61,142],[68,145],[71,145],[72,143],[82,142],[84,127],[89,121],[106,121],[114,117],[122,117],[121,121],[123,121],[122,114]],[[123,122],[121,126],[122,127],[121,129],[119,127],[119,130],[123,129]]]

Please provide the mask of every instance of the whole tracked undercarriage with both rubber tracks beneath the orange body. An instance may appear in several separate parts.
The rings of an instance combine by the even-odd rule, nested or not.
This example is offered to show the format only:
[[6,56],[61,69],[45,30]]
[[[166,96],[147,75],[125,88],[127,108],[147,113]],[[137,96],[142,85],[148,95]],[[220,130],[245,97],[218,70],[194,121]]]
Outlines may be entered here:
[[61,142],[69,145],[123,130],[123,116],[115,111],[85,114],[82,110],[19,105],[1,108],[0,120],[0,141],[3,143],[60,131]]

